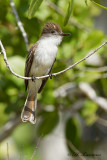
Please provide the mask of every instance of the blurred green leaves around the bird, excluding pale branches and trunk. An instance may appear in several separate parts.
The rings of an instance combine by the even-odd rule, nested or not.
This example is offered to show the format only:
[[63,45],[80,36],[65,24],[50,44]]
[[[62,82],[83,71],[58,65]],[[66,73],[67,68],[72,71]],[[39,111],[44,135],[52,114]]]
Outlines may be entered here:
[[[28,34],[30,46],[39,39],[41,29],[47,21],[54,21],[61,26],[64,32],[72,33],[72,36],[64,38],[62,44],[59,46],[57,61],[53,72],[58,72],[80,60],[106,39],[106,35],[102,30],[96,30],[94,28],[93,19],[100,14],[101,8],[97,8],[93,3],[86,6],[85,0],[74,0],[73,15],[71,16],[72,3],[69,3],[69,0],[53,0],[54,5],[66,14],[64,21],[64,17],[61,14],[52,9],[45,1],[43,3],[42,1],[43,0],[32,0],[29,4],[28,0],[14,0],[20,19]],[[97,1],[94,2],[97,3]],[[68,4],[69,8],[66,11]],[[0,12],[0,39],[6,49],[9,64],[16,73],[23,75],[27,56],[26,47],[8,0],[0,0]],[[28,18],[28,15],[31,19]],[[72,24],[68,21],[70,18]],[[63,22],[66,27],[63,26]],[[77,25],[73,22],[77,22]],[[84,27],[81,28],[80,25]],[[86,28],[88,32],[84,28]],[[99,114],[99,106],[95,102],[88,97],[86,98],[83,94],[80,95],[78,91],[77,94],[65,95],[64,97],[55,97],[54,91],[68,82],[73,82],[76,85],[81,82],[87,82],[92,84],[99,96],[107,97],[107,81],[102,78],[102,72],[95,71],[93,73],[91,71],[81,70],[82,67],[96,69],[97,67],[107,65],[106,52],[107,47],[104,47],[97,53],[102,63],[89,64],[82,62],[77,68],[69,70],[52,80],[48,80],[43,92],[38,95],[38,125],[31,126],[30,124],[21,124],[15,129],[13,134],[10,135],[16,143],[17,150],[24,144],[26,152],[29,152],[31,155],[31,148],[34,147],[36,138],[40,135],[49,135],[59,123],[60,106],[62,106],[61,111],[63,113],[66,111],[65,117],[67,117],[68,114],[70,114],[69,110],[72,109],[72,106],[83,98],[84,104],[82,108],[77,111],[77,115],[81,117],[81,119],[85,119],[86,125],[92,125],[96,121],[96,117]],[[101,78],[98,79],[96,76]],[[6,124],[12,115],[21,113],[25,99],[24,81],[16,78],[7,70],[2,55],[0,55],[0,127]],[[54,110],[48,111],[47,105],[53,105]],[[75,113],[73,116],[70,114],[70,117],[66,120],[64,134],[66,139],[81,150],[82,128],[79,125],[79,120],[74,118],[74,116]],[[23,128],[25,130],[23,130]],[[27,133],[26,136],[22,136],[24,131]],[[35,132],[38,133],[38,136]],[[31,134],[33,134],[32,138],[30,136]],[[27,140],[30,145],[26,144]]]

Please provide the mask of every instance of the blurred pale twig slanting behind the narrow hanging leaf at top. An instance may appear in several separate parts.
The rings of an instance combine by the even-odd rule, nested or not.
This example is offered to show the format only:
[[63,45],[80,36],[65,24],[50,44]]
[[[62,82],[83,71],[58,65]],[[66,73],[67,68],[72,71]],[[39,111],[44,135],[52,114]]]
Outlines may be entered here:
[[[65,13],[53,2],[51,1],[46,1],[47,5],[52,8],[53,10],[55,10],[57,13],[59,13],[60,15],[62,15],[63,17],[65,17]],[[77,22],[74,18],[70,18],[69,19],[69,23],[74,25],[75,27],[85,31],[85,32],[89,32],[90,30],[88,28],[86,28],[85,26],[83,26],[81,23]]]

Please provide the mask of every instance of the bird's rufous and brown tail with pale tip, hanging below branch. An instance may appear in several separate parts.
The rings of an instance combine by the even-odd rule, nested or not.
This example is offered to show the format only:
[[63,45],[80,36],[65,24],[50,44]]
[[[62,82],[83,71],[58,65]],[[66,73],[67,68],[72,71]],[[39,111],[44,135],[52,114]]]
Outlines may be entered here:
[[37,105],[36,96],[34,96],[33,94],[29,95],[28,93],[25,105],[21,113],[21,119],[23,122],[29,121],[32,124],[36,123],[36,117],[35,117],[36,105]]

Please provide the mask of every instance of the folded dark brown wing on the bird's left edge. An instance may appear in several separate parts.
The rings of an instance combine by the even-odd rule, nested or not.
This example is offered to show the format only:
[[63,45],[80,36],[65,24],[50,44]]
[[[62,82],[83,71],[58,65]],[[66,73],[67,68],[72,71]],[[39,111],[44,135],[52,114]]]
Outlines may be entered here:
[[[33,58],[34,58],[36,48],[37,48],[37,43],[35,43],[28,52],[28,56],[25,64],[25,77],[29,77],[29,73],[33,63]],[[28,80],[25,79],[25,90],[27,90],[27,87],[28,87]]]

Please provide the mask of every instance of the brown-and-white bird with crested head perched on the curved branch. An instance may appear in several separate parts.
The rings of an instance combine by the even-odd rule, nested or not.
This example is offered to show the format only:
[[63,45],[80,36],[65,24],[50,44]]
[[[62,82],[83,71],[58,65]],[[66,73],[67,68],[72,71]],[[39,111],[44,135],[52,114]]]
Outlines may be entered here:
[[39,40],[30,48],[25,63],[25,90],[28,88],[27,98],[21,113],[23,122],[36,123],[37,94],[42,91],[48,78],[34,79],[49,74],[51,77],[52,67],[56,61],[58,46],[64,36],[57,23],[47,22],[41,32]]

